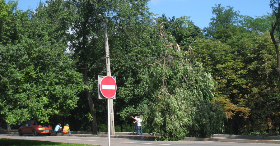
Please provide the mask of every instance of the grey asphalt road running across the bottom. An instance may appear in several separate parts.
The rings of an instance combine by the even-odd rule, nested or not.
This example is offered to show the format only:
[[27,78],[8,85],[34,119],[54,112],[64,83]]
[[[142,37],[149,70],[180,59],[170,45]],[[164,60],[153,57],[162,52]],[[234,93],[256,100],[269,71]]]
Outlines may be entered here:
[[[62,143],[76,144],[94,144],[107,146],[107,137],[75,137],[75,136],[32,136],[32,135],[7,135],[1,134],[0,138],[6,139],[27,139],[52,141]],[[0,144],[1,145],[1,144]],[[139,139],[122,139],[110,138],[111,146],[280,146],[280,144],[250,144],[250,143],[232,143],[232,142],[212,142],[212,141],[154,141],[154,140],[139,140]]]

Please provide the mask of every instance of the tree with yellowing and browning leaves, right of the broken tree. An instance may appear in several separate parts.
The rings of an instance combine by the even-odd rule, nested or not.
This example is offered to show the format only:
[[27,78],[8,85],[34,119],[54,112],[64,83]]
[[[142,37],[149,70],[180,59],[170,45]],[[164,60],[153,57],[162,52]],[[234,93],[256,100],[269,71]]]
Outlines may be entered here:
[[194,44],[194,55],[212,69],[217,87],[213,102],[224,106],[228,134],[275,134],[279,89],[269,43],[268,32],[254,31],[239,32],[225,43],[198,39]]

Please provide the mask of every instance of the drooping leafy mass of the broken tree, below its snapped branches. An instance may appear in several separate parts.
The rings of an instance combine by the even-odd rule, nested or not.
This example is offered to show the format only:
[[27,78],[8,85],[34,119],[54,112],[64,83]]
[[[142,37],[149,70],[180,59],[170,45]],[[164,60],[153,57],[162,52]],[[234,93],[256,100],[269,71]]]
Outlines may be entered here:
[[168,60],[166,64],[173,66],[164,69],[162,65],[152,66],[158,72],[154,79],[160,80],[164,70],[166,86],[160,88],[158,84],[158,91],[152,94],[153,102],[145,108],[147,121],[152,122],[151,132],[159,134],[158,140],[179,140],[186,136],[210,137],[222,131],[225,115],[211,103],[211,75],[198,62],[179,62]]

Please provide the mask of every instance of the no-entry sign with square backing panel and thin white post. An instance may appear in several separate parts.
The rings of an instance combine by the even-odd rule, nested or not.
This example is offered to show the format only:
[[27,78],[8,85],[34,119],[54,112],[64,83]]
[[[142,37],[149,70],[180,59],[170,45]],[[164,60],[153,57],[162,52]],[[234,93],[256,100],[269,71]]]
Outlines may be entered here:
[[108,144],[110,146],[110,99],[116,99],[116,77],[98,75],[98,98],[107,99],[108,107]]

